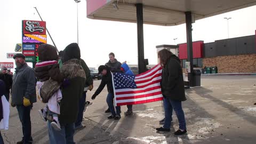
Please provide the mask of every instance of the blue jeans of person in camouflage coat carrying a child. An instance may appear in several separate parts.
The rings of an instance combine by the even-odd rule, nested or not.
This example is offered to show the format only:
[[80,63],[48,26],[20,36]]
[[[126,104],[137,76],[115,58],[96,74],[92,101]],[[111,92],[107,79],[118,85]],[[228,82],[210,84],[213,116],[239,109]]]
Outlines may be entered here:
[[51,126],[51,122],[48,121],[48,133],[50,144],[73,144],[74,142],[74,133],[75,133],[75,124],[66,124],[61,125],[61,131],[55,131]]

